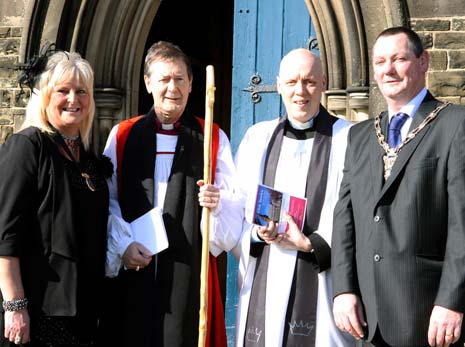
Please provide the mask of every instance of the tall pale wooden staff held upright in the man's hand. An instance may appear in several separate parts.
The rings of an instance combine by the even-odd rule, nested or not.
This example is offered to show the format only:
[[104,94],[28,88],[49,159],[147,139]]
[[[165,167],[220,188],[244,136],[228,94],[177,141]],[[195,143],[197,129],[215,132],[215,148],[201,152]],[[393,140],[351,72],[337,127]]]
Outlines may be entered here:
[[[205,91],[205,129],[203,144],[203,180],[211,184],[211,152],[213,104],[215,103],[215,72],[212,65],[207,66],[207,87]],[[202,235],[202,265],[200,271],[200,312],[199,312],[199,344],[205,347],[208,320],[208,260],[210,239],[210,209],[204,207],[204,229]]]

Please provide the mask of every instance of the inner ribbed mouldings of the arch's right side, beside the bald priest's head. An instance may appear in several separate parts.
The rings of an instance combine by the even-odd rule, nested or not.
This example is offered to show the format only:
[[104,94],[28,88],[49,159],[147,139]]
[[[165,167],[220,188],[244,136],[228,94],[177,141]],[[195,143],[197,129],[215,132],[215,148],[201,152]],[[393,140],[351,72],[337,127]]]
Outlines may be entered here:
[[349,120],[368,117],[368,54],[357,0],[306,0],[328,76],[327,108]]

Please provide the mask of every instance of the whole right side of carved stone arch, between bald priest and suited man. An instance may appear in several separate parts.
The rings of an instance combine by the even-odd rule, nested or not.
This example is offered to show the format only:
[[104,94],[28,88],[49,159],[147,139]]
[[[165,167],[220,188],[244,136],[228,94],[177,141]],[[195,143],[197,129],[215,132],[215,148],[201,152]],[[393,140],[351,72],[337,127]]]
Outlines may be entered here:
[[305,0],[305,3],[328,76],[323,102],[340,117],[354,121],[368,118],[383,105],[370,78],[370,48],[380,31],[407,23],[404,2]]

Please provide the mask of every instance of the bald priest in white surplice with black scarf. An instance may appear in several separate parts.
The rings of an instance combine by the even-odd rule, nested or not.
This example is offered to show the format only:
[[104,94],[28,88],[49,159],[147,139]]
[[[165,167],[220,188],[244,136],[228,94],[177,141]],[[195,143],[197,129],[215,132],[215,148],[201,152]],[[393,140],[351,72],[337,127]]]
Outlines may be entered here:
[[[278,92],[286,115],[252,126],[237,156],[245,219],[240,252],[236,346],[353,346],[332,318],[332,213],[350,124],[320,104],[321,61],[296,49],[281,61]],[[252,224],[257,184],[307,199],[302,231]]]

